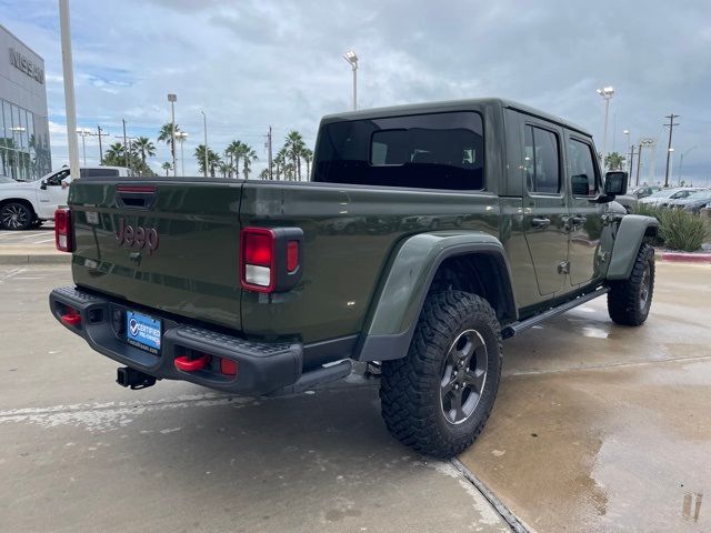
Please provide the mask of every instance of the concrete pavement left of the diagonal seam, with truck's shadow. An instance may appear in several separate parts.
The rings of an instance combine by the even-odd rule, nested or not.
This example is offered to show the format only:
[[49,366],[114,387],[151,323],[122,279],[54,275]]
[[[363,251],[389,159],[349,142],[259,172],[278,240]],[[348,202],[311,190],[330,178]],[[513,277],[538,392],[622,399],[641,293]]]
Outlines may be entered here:
[[0,265],[0,531],[510,531],[450,463],[390,438],[374,384],[121,389],[49,314],[69,283],[67,266]]

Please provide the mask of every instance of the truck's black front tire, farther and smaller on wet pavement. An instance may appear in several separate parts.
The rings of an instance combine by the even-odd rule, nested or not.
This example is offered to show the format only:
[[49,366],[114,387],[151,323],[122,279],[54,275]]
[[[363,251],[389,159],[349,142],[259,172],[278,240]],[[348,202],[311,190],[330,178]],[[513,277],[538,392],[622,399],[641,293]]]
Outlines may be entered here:
[[629,280],[613,281],[608,293],[608,312],[613,322],[641,325],[649,316],[654,293],[654,249],[640,247]]

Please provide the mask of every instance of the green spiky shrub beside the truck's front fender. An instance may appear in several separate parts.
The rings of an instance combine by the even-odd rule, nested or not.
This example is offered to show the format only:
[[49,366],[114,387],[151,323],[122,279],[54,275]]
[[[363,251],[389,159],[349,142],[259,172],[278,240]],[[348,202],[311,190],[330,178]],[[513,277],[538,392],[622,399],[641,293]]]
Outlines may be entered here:
[[634,213],[655,217],[659,220],[659,234],[653,242],[654,245],[695,252],[710,237],[702,218],[682,209],[659,209],[640,204],[634,209]]

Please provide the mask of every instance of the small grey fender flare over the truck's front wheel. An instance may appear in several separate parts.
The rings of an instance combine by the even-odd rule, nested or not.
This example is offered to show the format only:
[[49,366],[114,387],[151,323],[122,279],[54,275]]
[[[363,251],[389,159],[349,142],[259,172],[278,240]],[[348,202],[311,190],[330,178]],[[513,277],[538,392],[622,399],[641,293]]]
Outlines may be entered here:
[[653,217],[625,214],[614,235],[612,258],[608,266],[608,280],[628,280],[632,274],[637,252],[645,235],[655,235],[659,221]]

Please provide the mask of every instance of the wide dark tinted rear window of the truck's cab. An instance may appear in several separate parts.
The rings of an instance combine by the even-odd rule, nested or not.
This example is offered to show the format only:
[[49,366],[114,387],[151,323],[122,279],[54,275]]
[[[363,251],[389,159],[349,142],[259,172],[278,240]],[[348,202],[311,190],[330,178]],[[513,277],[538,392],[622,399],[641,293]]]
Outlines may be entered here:
[[483,154],[473,111],[332,122],[319,134],[313,181],[478,191]]

